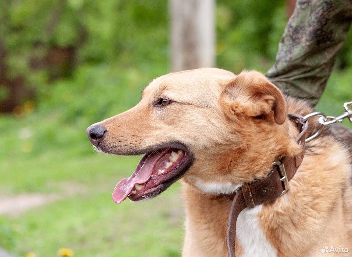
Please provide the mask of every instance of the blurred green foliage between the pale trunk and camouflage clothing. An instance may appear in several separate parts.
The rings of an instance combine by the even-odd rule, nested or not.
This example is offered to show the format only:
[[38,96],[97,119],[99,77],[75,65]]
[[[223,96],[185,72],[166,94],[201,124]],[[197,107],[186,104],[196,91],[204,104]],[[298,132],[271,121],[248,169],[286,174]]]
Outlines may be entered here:
[[217,21],[218,66],[270,68],[287,22],[284,1],[218,1]]

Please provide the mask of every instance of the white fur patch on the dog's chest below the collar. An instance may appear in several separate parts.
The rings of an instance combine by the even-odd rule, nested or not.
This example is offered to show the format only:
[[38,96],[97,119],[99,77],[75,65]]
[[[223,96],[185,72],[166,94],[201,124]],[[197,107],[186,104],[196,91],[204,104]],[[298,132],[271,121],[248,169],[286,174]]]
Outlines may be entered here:
[[237,218],[236,238],[243,249],[243,257],[276,257],[277,250],[266,240],[259,226],[258,212],[262,205],[244,209]]

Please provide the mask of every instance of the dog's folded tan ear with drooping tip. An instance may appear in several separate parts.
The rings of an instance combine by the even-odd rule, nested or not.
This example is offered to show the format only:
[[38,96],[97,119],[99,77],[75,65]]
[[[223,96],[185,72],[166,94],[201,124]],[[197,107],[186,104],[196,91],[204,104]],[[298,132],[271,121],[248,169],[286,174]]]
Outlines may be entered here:
[[256,71],[243,71],[231,80],[221,93],[221,104],[231,117],[244,114],[268,117],[274,113],[277,124],[286,118],[285,99],[274,84]]

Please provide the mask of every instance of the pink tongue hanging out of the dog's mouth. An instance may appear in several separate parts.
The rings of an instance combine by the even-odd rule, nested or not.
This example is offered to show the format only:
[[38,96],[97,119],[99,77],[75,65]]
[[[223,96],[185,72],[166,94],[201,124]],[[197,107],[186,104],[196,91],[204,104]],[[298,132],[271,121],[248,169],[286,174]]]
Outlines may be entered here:
[[[162,151],[161,153],[152,153],[146,159],[145,156],[143,156],[131,177],[124,178],[117,183],[114,192],[112,193],[112,200],[117,204],[121,203],[131,193],[135,184],[144,184],[147,182],[152,175],[154,164],[164,152],[165,151]],[[141,165],[143,166],[141,167]]]

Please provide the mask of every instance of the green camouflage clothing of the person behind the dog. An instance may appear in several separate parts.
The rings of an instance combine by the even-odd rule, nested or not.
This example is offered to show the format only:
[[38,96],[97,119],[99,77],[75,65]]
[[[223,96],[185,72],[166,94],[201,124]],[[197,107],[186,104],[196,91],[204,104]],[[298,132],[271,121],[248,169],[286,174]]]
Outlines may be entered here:
[[297,0],[266,76],[282,92],[315,105],[351,20],[352,0]]

